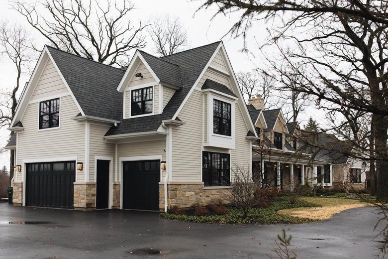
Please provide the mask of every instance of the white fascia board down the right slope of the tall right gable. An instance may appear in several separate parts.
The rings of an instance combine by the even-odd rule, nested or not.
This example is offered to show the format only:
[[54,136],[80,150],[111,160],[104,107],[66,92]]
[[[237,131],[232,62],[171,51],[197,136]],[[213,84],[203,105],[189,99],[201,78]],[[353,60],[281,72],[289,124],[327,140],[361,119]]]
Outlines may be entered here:
[[234,92],[238,93],[238,95],[237,95],[238,96],[238,104],[240,106],[240,111],[241,111],[241,114],[242,114],[243,119],[245,121],[245,124],[246,124],[246,126],[248,126],[248,129],[251,130],[255,134],[255,136],[257,136],[255,126],[253,125],[253,122],[251,120],[251,116],[249,115],[248,108],[247,108],[247,105],[246,105],[245,100],[244,100],[244,96],[242,95],[241,90],[238,86],[238,81],[237,81],[236,75],[233,71],[232,64],[230,63],[230,60],[229,60],[228,54],[226,53],[223,42],[220,43],[220,49],[223,52],[222,54],[225,57],[226,65],[228,66],[231,77],[233,79],[233,80],[231,80],[230,83],[231,83],[232,87],[234,87],[234,89],[235,89]]

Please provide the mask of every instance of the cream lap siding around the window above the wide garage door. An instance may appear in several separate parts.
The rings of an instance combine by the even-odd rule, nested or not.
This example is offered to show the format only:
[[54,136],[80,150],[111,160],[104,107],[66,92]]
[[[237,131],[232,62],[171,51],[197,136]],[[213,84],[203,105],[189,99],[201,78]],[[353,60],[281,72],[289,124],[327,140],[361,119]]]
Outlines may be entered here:
[[[80,111],[71,96],[60,99],[60,128],[38,131],[39,103],[31,103],[22,118],[23,132],[18,133],[17,164],[25,159],[77,157],[85,164],[85,125],[72,120]],[[49,160],[48,160],[49,162]],[[84,171],[77,172],[76,181],[84,181]],[[18,172],[16,181],[22,181]]]

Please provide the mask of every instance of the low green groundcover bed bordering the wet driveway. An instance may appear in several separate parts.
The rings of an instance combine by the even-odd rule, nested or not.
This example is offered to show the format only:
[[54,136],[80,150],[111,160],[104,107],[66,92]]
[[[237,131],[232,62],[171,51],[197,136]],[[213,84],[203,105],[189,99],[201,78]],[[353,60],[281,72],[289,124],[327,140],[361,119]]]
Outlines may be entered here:
[[280,201],[275,201],[268,208],[252,208],[248,212],[248,217],[243,218],[242,210],[235,208],[228,208],[226,215],[212,215],[212,216],[187,216],[174,215],[169,213],[161,213],[160,216],[166,219],[192,221],[198,223],[218,223],[218,224],[283,224],[283,223],[308,223],[314,220],[292,217],[288,215],[278,214],[278,210],[299,208],[299,207],[317,207],[318,204],[298,200],[291,204],[287,198],[282,197]]

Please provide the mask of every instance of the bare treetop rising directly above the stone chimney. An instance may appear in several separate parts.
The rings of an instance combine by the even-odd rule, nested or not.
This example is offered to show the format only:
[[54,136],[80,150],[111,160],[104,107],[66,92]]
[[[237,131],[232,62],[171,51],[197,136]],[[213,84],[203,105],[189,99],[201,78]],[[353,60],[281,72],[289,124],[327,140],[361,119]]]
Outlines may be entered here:
[[237,81],[240,85],[241,92],[249,99],[255,95],[261,95],[266,105],[274,90],[274,81],[266,73],[254,69],[251,72],[239,72],[237,74]]

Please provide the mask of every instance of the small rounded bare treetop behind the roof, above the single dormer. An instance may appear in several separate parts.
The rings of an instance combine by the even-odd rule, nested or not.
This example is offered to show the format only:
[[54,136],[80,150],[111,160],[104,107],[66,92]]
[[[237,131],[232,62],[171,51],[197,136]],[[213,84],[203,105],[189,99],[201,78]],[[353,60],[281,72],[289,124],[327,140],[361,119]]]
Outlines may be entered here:
[[155,44],[156,54],[171,55],[188,45],[187,32],[179,17],[155,16],[149,23],[148,33]]

